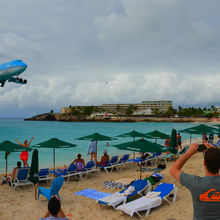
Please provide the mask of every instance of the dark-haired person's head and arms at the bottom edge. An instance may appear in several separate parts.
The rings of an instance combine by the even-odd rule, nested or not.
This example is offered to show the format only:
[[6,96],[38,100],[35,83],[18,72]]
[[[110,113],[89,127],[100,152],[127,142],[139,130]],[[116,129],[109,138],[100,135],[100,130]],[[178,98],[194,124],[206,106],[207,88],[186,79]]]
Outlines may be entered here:
[[49,202],[48,202],[48,210],[45,213],[43,218],[40,218],[40,220],[49,220],[49,219],[58,219],[58,220],[68,220],[66,218],[60,204],[60,200],[53,196]]

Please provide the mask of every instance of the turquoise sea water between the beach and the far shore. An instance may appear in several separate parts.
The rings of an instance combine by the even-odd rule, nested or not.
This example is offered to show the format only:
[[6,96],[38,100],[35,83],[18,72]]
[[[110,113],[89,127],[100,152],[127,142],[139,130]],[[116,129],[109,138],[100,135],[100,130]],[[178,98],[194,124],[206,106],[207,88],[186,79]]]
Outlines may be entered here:
[[[15,142],[18,139],[23,142],[30,140],[34,136],[31,145],[40,143],[53,137],[77,144],[75,148],[57,149],[56,165],[62,166],[69,164],[75,158],[77,153],[81,153],[85,160],[88,160],[87,149],[89,141],[79,141],[75,138],[89,135],[94,132],[100,132],[108,136],[116,136],[133,129],[139,132],[147,133],[158,129],[167,134],[171,133],[172,128],[177,130],[195,125],[195,123],[155,123],[155,122],[44,122],[44,121],[24,121],[23,119],[0,119],[0,142],[10,140]],[[195,136],[196,137],[196,136]],[[182,134],[183,139],[188,139],[189,135]],[[110,156],[121,155],[124,151],[119,151],[112,147],[112,144],[131,141],[132,138],[120,138],[111,141],[110,146],[106,146],[106,141],[98,142],[98,158],[106,149]],[[152,140],[153,141],[153,140]],[[164,141],[158,141],[163,143]],[[126,151],[127,153],[127,151]],[[11,153],[8,157],[8,167],[11,170],[20,159],[20,153]],[[29,153],[29,165],[31,164],[31,153]],[[52,167],[53,152],[52,149],[39,149],[39,165],[43,167]],[[4,153],[0,152],[0,173],[5,171]]]

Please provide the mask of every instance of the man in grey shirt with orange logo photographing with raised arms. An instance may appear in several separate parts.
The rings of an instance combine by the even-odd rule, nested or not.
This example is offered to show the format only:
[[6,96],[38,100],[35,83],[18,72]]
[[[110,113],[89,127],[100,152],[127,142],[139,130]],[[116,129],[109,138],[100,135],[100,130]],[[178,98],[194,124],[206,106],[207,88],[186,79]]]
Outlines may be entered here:
[[[205,146],[205,147],[204,147]],[[200,147],[203,147],[200,150]],[[187,174],[182,171],[184,164],[199,151],[204,152],[205,176]],[[188,151],[170,168],[171,175],[192,195],[194,220],[220,219],[220,151],[212,144],[203,146],[193,143]]]

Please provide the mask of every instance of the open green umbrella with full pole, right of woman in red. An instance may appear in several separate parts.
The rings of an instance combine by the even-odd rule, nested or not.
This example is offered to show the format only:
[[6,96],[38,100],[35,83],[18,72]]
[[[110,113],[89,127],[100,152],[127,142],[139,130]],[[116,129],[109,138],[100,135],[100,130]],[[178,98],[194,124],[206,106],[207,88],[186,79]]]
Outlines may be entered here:
[[71,148],[75,147],[76,144],[68,143],[66,141],[59,140],[58,138],[51,138],[47,141],[41,142],[39,144],[36,144],[32,147],[36,148],[51,148],[53,149],[53,170],[55,175],[55,149],[57,148]]

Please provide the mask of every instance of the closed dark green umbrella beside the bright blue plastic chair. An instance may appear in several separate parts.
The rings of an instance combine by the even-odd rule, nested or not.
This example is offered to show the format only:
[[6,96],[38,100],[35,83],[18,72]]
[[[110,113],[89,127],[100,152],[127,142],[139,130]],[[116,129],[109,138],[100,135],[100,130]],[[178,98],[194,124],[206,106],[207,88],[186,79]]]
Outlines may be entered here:
[[32,153],[29,181],[31,181],[34,184],[35,200],[37,200],[37,183],[39,182],[38,172],[39,172],[38,150],[34,149]]

